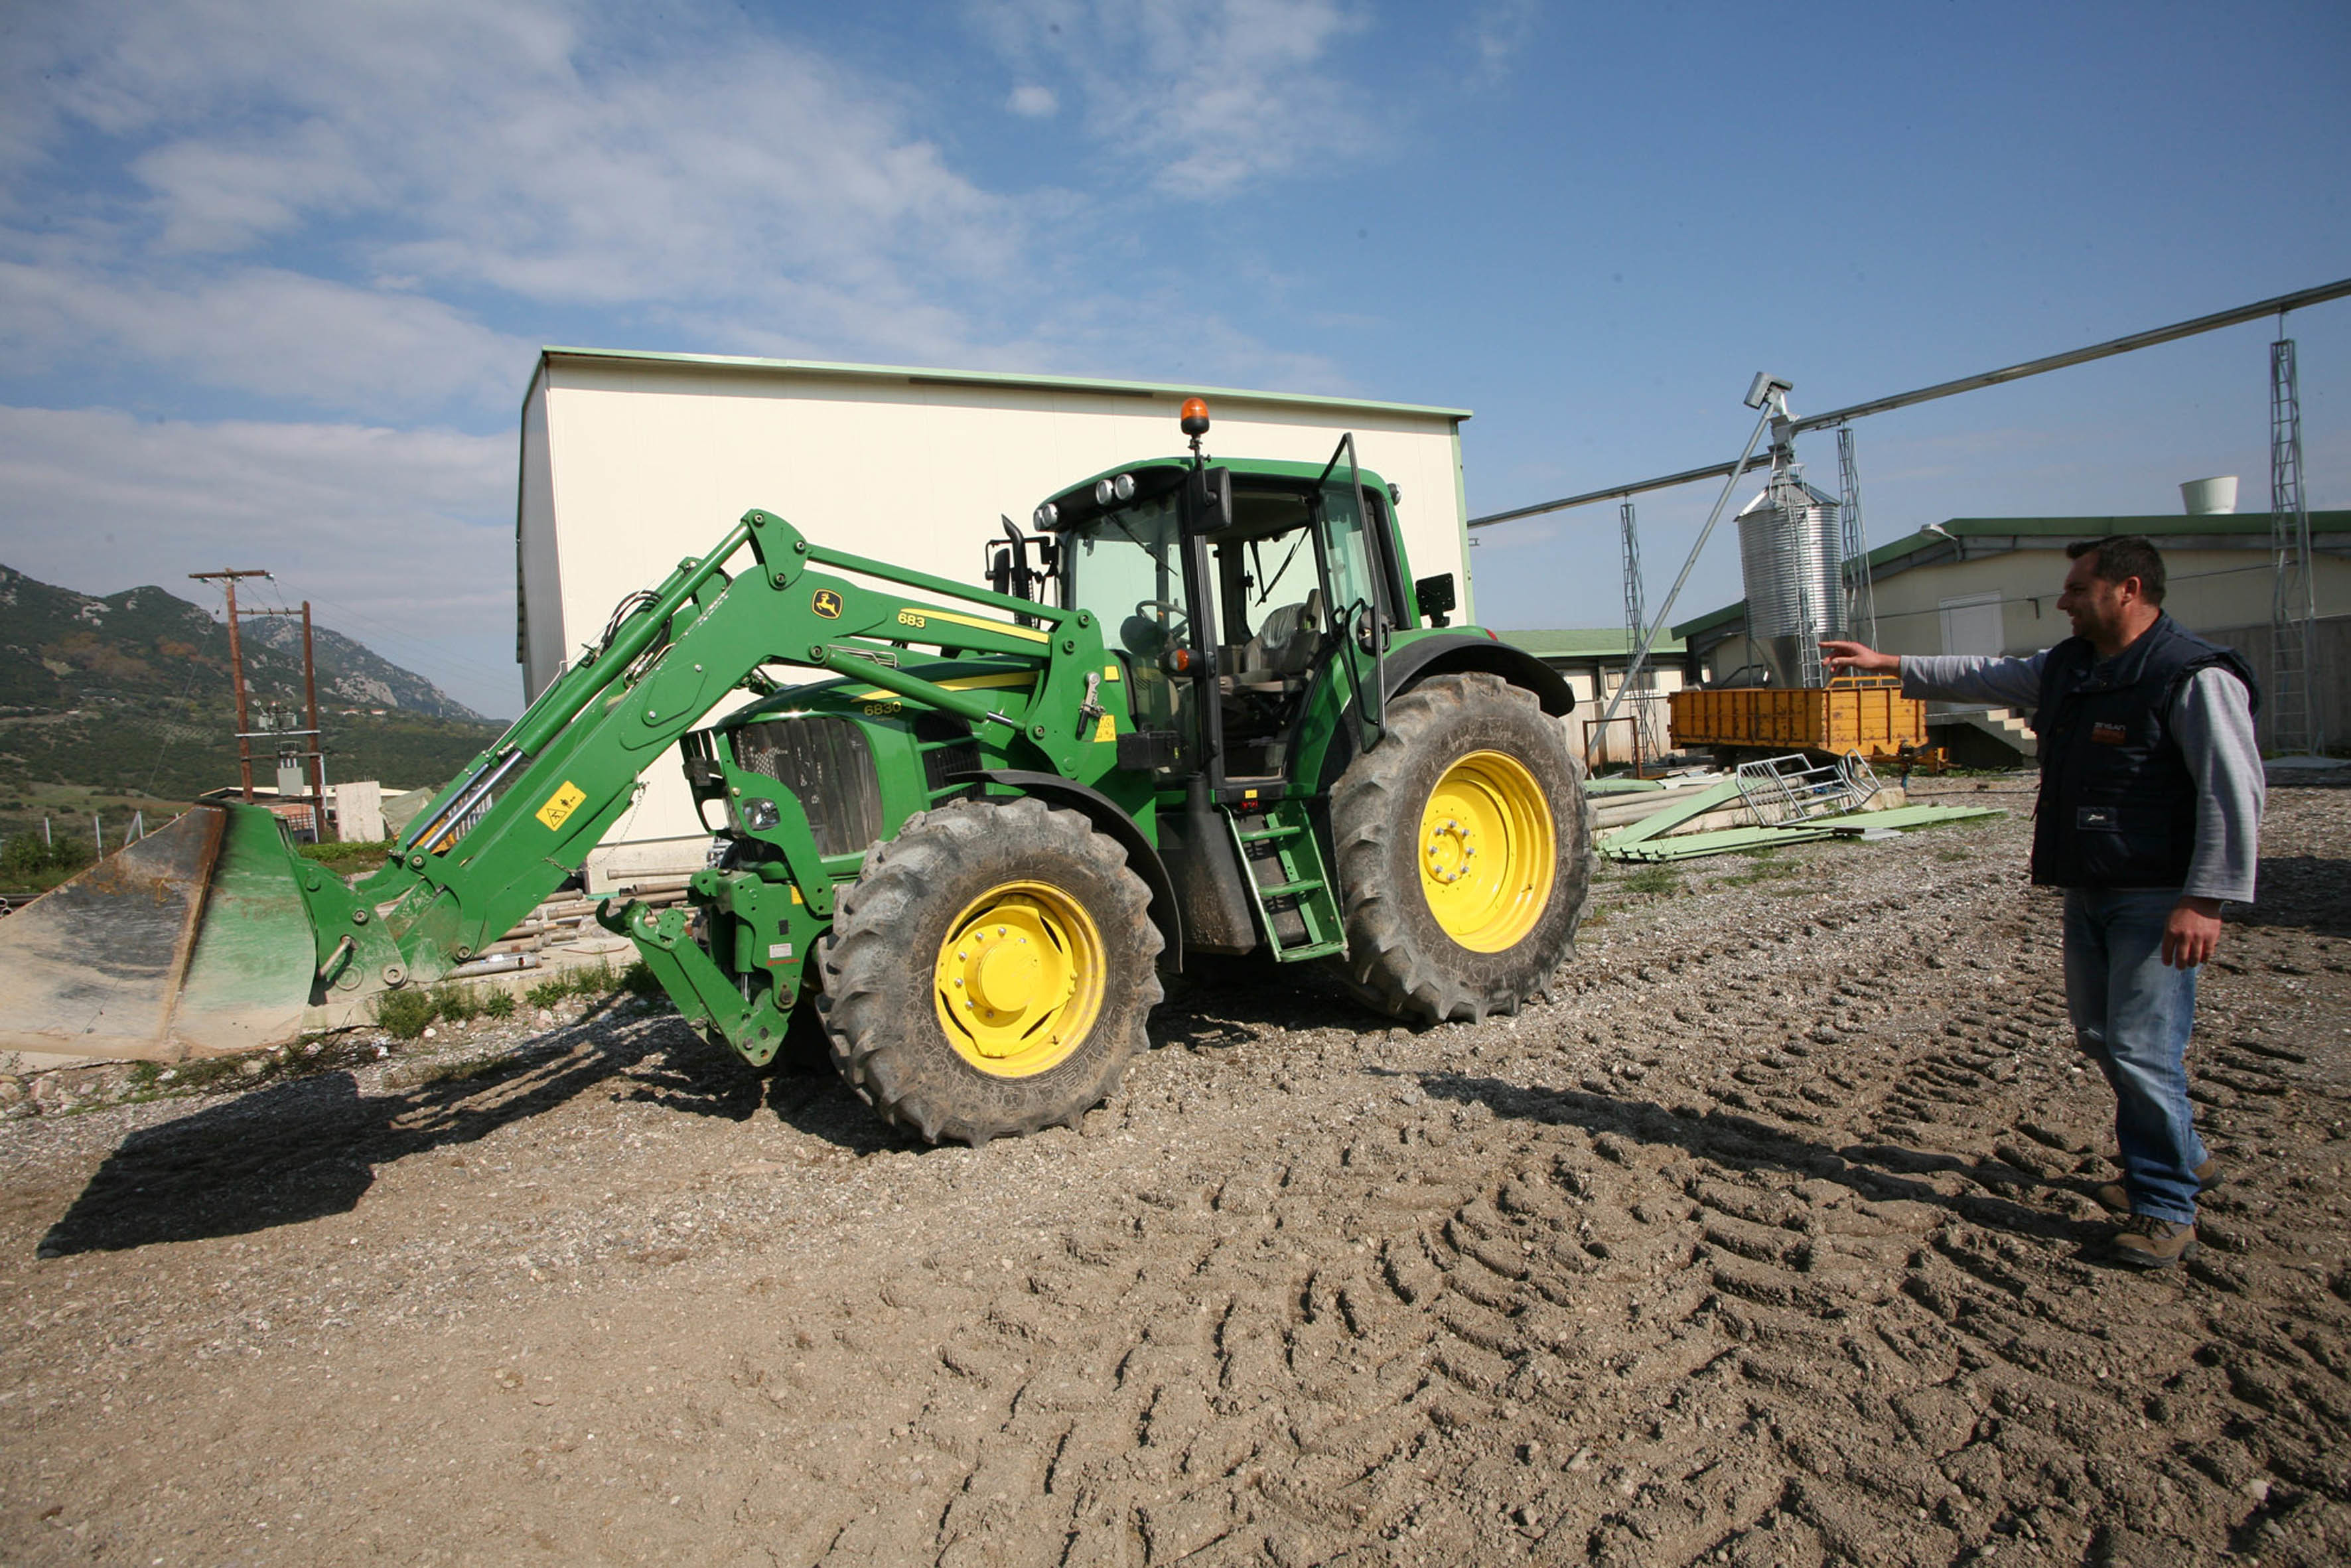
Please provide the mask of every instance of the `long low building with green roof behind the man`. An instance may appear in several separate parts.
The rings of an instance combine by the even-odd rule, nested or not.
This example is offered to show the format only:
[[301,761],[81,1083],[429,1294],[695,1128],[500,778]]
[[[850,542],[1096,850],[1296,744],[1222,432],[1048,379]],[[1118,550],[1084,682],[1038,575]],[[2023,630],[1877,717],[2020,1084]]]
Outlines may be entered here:
[[[2158,517],[1951,517],[1869,552],[1876,644],[1888,654],[2031,654],[2071,635],[2057,614],[2064,548],[2144,534],[2170,578],[2163,609],[2191,632],[2236,646],[2269,672],[2269,512]],[[2330,738],[2351,738],[2351,510],[2311,512],[2318,588],[2313,698]],[[1747,602],[1674,625],[1695,679],[1744,684],[1759,663]],[[1855,628],[1867,637],[1869,628]]]

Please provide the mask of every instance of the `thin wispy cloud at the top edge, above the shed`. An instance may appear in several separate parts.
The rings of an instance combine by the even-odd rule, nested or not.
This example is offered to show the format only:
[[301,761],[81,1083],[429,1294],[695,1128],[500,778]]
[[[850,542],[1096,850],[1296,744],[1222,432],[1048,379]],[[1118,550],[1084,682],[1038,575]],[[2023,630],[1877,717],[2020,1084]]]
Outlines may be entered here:
[[1340,0],[1016,0],[976,24],[1020,68],[1074,82],[1086,129],[1180,197],[1378,143],[1331,66],[1368,24]]

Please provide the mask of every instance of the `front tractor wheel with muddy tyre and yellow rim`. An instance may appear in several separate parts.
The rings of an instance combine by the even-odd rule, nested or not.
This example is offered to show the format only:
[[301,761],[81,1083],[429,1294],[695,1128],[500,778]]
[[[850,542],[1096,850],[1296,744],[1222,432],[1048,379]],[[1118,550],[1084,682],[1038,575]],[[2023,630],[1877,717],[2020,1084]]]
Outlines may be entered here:
[[1084,816],[924,811],[865,853],[818,954],[832,1063],[929,1143],[1077,1126],[1150,1044],[1161,945],[1150,889]]

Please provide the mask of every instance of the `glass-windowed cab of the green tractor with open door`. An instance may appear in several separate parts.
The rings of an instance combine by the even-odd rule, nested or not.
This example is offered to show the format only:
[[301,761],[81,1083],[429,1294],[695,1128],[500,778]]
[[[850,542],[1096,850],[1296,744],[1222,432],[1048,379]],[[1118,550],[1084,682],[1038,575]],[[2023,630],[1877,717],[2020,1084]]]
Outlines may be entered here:
[[1060,607],[1100,621],[1131,682],[1133,745],[1166,783],[1274,799],[1314,682],[1375,682],[1404,604],[1389,505],[1342,437],[1321,468],[1194,454],[1037,508],[1058,545]]

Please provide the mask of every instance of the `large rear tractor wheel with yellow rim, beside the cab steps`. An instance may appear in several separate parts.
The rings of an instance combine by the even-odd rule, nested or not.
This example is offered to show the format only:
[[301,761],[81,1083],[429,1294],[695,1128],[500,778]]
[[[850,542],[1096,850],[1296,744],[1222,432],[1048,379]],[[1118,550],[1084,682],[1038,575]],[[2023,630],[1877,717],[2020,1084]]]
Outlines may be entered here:
[[1331,792],[1352,990],[1392,1018],[1516,1013],[1592,889],[1580,769],[1535,693],[1436,675],[1387,705],[1385,738]]

